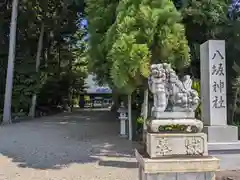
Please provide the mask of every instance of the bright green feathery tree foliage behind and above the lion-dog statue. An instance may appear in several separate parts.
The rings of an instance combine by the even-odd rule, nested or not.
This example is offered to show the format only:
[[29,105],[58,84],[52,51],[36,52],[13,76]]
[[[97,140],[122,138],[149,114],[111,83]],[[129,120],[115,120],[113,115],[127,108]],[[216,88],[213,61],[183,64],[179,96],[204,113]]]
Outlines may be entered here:
[[107,65],[100,68],[118,89],[131,93],[148,76],[152,63],[167,62],[177,69],[189,65],[181,14],[173,2],[111,2],[87,1],[90,42],[98,44],[90,47],[90,54],[96,64]]

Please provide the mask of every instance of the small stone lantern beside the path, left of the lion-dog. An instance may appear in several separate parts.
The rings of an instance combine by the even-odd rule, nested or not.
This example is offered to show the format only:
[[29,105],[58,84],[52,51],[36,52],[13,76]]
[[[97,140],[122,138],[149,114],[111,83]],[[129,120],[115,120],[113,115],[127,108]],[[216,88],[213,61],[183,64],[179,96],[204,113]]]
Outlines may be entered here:
[[119,120],[120,120],[120,136],[126,137],[127,136],[127,131],[126,131],[126,122],[128,120],[128,114],[127,114],[127,109],[125,108],[123,102],[121,102],[121,105],[118,109],[119,113]]

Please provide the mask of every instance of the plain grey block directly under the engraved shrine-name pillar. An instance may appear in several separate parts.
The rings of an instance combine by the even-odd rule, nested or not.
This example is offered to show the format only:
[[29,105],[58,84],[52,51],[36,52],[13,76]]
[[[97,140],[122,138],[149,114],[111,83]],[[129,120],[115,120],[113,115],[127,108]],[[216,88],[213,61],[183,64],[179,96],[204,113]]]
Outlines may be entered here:
[[208,135],[209,143],[238,141],[237,126],[205,126],[203,132]]

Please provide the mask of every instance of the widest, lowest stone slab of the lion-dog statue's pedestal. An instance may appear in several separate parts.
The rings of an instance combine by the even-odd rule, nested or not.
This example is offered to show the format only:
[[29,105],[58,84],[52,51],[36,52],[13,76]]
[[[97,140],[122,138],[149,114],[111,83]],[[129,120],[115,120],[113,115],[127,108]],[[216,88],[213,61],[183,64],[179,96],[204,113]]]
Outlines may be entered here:
[[215,180],[219,170],[219,160],[210,156],[150,159],[138,150],[135,155],[139,180]]

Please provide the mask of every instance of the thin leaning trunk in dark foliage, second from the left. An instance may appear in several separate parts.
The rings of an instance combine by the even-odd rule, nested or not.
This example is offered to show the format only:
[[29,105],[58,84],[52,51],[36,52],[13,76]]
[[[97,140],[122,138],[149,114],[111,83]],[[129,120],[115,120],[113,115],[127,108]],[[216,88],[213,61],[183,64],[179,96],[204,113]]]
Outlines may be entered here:
[[[37,56],[36,56],[36,73],[37,74],[38,74],[38,71],[39,71],[41,54],[42,54],[43,37],[44,37],[44,22],[42,22],[41,32],[40,32],[40,36],[39,36],[39,40],[38,40],[38,48],[37,48]],[[39,83],[39,79],[38,79],[37,83]],[[32,118],[35,117],[36,104],[37,104],[37,94],[35,93],[32,96],[32,105],[31,105],[30,110],[29,110],[29,116],[32,117]]]

